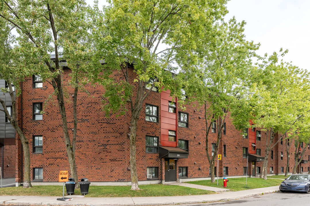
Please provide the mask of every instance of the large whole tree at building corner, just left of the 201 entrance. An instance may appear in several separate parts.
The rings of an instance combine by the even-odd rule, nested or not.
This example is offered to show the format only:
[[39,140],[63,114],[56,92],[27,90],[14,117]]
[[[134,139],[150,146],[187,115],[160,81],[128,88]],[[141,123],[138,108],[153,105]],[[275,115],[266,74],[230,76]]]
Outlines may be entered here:
[[[154,87],[161,91],[170,84],[173,69],[193,64],[198,37],[227,12],[227,1],[108,2],[96,26],[97,55],[105,63],[104,108],[107,115],[122,115],[129,103],[131,189],[138,190],[136,131],[144,100]],[[160,48],[162,43],[167,48]]]

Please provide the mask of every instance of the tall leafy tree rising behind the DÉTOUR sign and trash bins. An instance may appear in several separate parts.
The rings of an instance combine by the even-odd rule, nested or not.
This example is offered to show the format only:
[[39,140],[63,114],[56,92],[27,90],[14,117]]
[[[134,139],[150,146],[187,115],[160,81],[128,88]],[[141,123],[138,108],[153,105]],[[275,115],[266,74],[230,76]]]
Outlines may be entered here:
[[[71,175],[78,179],[75,163],[77,136],[77,96],[89,77],[101,67],[93,61],[91,9],[83,0],[62,1],[1,1],[0,17],[17,31],[16,49],[20,55],[20,72],[33,71],[54,89],[60,110]],[[55,58],[51,58],[55,53]],[[65,62],[63,62],[65,60]],[[71,79],[64,82],[63,68],[71,69]],[[9,71],[7,71],[9,72]],[[20,79],[21,81],[21,79]],[[73,136],[70,140],[67,117],[67,91],[73,87]],[[78,184],[76,184],[78,187]]]

